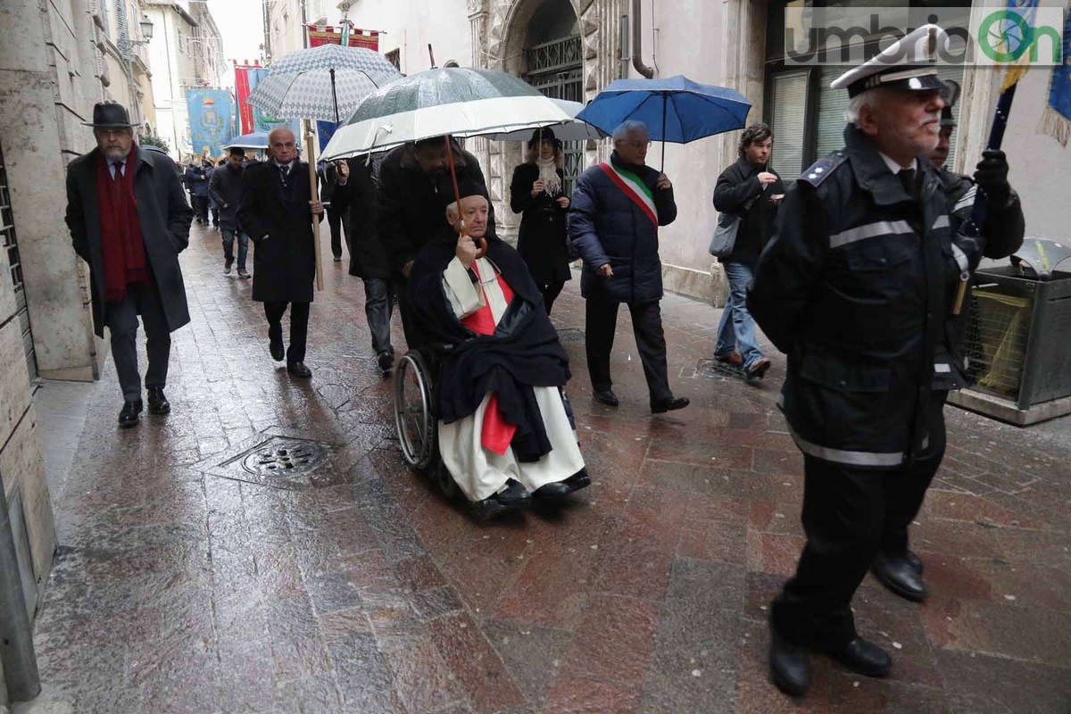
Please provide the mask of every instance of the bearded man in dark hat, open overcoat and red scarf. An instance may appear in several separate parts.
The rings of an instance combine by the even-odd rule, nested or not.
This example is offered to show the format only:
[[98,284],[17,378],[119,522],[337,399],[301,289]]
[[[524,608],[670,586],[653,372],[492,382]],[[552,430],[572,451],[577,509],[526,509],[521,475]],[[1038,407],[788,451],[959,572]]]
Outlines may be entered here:
[[116,102],[93,107],[96,148],[67,168],[66,224],[75,253],[90,269],[93,324],[111,333],[123,408],[119,425],[135,426],[141,412],[137,316],[145,324],[149,412],[166,414],[164,396],[171,335],[190,322],[179,253],[190,244],[193,210],[170,158],[134,141],[126,109]]

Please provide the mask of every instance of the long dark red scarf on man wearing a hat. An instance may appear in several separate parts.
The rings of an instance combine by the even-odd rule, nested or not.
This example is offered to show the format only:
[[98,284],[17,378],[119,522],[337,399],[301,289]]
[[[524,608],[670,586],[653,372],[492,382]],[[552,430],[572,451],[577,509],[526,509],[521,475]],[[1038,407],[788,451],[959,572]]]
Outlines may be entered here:
[[101,210],[101,253],[104,256],[104,299],[116,302],[127,285],[149,285],[149,265],[141,237],[141,221],[134,196],[137,143],[126,154],[126,165],[108,170],[104,152],[96,159],[96,202]]

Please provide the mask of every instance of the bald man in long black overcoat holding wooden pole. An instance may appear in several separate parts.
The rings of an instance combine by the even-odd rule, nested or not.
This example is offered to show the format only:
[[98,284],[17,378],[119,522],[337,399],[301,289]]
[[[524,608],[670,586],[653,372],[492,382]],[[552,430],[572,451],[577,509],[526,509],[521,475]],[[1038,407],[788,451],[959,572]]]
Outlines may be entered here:
[[[308,307],[313,302],[316,250],[313,215],[323,203],[312,200],[308,164],[298,161],[297,139],[286,127],[268,135],[272,157],[245,169],[238,223],[248,233],[253,254],[253,300],[265,304],[272,358],[292,376],[307,379]],[[283,346],[283,315],[290,307],[290,347]]]

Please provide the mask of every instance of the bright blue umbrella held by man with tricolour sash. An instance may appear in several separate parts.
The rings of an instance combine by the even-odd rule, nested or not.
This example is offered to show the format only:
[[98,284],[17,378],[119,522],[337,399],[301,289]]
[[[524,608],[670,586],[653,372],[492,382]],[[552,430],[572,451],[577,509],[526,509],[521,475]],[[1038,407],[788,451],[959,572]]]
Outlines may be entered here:
[[642,121],[653,141],[688,143],[743,128],[751,102],[724,87],[699,85],[678,75],[666,79],[618,79],[576,116],[612,134],[623,121]]

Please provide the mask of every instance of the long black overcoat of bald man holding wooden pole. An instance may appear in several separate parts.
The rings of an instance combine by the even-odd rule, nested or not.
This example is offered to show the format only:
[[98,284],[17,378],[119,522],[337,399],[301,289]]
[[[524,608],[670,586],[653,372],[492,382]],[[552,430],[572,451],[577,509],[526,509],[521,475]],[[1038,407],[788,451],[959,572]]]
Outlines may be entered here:
[[286,184],[275,162],[242,174],[238,223],[253,241],[253,300],[311,303],[316,277],[308,164],[295,162]]

